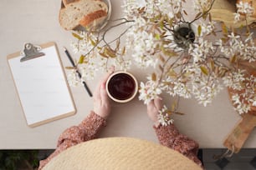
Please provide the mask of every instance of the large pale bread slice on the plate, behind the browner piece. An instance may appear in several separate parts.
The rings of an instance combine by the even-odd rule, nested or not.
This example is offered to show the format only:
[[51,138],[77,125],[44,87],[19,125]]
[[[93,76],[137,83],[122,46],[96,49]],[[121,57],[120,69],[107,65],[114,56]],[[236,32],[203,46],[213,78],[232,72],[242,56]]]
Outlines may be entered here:
[[[72,30],[79,26],[84,16],[103,10],[108,13],[108,6],[101,0],[79,0],[69,3],[59,11],[59,23],[66,30]],[[86,25],[84,25],[85,27]]]

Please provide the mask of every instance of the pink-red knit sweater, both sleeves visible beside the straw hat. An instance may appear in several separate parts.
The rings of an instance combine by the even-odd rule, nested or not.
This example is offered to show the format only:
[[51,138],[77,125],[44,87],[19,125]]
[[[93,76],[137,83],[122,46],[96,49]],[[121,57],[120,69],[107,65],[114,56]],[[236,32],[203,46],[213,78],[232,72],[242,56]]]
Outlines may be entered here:
[[[89,116],[86,117],[78,126],[68,128],[60,135],[57,148],[54,153],[52,153],[49,158],[40,161],[38,170],[44,168],[46,163],[49,163],[52,158],[65,149],[95,138],[96,134],[100,131],[100,128],[104,126],[105,119],[91,111]],[[182,153],[202,167],[202,163],[197,158],[198,144],[195,141],[178,133],[177,128],[175,128],[174,125],[154,128],[162,145]]]

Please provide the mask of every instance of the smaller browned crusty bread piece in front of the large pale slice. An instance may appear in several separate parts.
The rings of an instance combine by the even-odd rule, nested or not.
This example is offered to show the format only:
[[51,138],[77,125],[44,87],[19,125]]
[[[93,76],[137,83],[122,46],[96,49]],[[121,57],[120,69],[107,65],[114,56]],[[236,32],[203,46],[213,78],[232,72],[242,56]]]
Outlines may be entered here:
[[[106,18],[107,13],[104,10],[98,10],[94,13],[89,13],[88,15],[84,15],[84,18],[82,18],[79,22],[79,24],[83,27],[94,27],[98,25],[97,21],[99,21],[100,18]],[[100,21],[102,21],[100,19]]]

